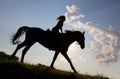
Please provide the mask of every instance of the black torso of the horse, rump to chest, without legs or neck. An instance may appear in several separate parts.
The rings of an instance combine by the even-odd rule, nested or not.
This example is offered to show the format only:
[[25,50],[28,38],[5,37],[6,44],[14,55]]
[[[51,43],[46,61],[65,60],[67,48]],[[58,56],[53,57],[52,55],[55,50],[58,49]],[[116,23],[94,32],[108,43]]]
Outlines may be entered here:
[[54,33],[40,28],[30,28],[26,32],[27,42],[39,42],[44,47],[53,51],[67,50],[68,37],[64,33]]

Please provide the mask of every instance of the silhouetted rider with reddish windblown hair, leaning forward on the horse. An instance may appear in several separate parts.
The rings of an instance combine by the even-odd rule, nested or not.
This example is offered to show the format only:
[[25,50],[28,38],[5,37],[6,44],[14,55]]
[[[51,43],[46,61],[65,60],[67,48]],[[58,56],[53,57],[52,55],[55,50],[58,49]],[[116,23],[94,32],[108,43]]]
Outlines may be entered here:
[[61,33],[63,33],[62,27],[63,27],[63,22],[66,20],[65,16],[59,16],[57,20],[58,20],[58,23],[56,24],[56,26],[52,28],[52,32],[60,33],[59,32],[60,30]]

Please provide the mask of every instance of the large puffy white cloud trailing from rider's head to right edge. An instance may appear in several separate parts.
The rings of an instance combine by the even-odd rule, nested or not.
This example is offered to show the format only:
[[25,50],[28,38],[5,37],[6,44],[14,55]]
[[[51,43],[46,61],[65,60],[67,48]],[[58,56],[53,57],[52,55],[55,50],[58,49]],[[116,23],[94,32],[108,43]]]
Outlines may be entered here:
[[[84,29],[93,38],[90,42],[92,57],[101,65],[109,65],[117,61],[117,52],[120,48],[120,33],[112,28],[103,28],[99,25],[92,25],[91,22],[82,23],[80,20],[85,15],[81,9],[75,5],[66,6],[66,23],[74,29]],[[74,47],[74,46],[73,46]]]

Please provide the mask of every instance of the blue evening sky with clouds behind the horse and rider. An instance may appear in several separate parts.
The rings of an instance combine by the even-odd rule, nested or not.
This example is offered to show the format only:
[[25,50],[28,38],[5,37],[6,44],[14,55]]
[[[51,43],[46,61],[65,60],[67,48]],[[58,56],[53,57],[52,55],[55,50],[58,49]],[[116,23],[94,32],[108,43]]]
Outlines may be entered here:
[[[85,31],[85,49],[74,42],[68,55],[76,70],[83,74],[102,74],[120,79],[120,1],[119,0],[0,0],[0,51],[11,55],[17,45],[11,37],[21,26],[44,30],[56,25],[56,18],[66,16],[63,30]],[[23,35],[20,40],[24,41]],[[22,49],[16,56],[21,57]],[[54,51],[35,43],[24,61],[51,64]],[[55,68],[72,71],[60,54]]]

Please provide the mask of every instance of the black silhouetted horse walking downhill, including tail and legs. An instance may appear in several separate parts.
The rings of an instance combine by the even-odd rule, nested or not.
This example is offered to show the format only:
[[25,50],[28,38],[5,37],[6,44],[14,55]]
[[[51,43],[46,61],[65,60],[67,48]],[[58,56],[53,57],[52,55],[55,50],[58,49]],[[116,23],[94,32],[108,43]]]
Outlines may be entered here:
[[[20,43],[19,38],[22,34],[25,33],[25,40]],[[67,55],[68,47],[74,42],[78,42],[81,49],[85,48],[85,32],[80,31],[70,31],[67,30],[65,33],[55,33],[50,30],[43,30],[38,27],[29,27],[29,26],[21,26],[16,34],[12,38],[12,43],[17,44],[16,49],[14,50],[11,57],[15,57],[17,51],[25,47],[22,51],[21,62],[23,63],[24,56],[29,48],[36,42],[40,43],[44,47],[48,48],[49,50],[55,51],[53,60],[51,62],[50,68],[53,68],[54,62],[59,53],[61,53],[68,63],[71,66],[71,69],[77,73],[76,69],[74,68],[69,56]]]

